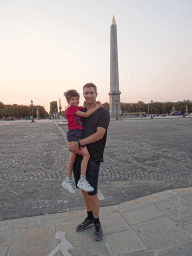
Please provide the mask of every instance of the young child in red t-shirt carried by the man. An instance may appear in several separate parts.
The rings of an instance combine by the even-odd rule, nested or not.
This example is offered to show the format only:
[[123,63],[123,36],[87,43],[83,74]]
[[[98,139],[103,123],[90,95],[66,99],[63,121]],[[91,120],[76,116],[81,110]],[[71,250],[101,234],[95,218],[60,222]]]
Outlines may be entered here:
[[[66,118],[68,121],[68,132],[67,132],[67,140],[70,141],[79,141],[82,138],[83,132],[83,123],[81,117],[88,117],[92,115],[98,108],[101,107],[101,104],[98,103],[93,109],[82,112],[83,107],[78,107],[79,105],[79,93],[76,90],[68,90],[64,93],[66,97],[67,103],[70,105],[66,110]],[[86,180],[86,170],[87,164],[90,158],[89,152],[86,146],[81,146],[80,148],[81,155],[83,156],[83,160],[81,163],[81,177],[77,183],[77,186],[87,192],[93,191],[93,187]],[[73,164],[75,162],[76,154],[70,152],[69,162],[67,165],[67,176],[66,180],[62,183],[62,186],[66,188],[71,193],[76,193],[72,184],[71,184],[71,175]]]

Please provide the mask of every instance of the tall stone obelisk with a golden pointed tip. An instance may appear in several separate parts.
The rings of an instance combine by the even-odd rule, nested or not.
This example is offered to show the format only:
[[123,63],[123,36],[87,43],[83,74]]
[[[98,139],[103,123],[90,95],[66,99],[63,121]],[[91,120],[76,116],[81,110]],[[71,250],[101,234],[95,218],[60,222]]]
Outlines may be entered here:
[[109,92],[109,112],[111,117],[119,119],[121,114],[119,91],[119,70],[117,51],[117,25],[113,16],[110,31],[110,92]]

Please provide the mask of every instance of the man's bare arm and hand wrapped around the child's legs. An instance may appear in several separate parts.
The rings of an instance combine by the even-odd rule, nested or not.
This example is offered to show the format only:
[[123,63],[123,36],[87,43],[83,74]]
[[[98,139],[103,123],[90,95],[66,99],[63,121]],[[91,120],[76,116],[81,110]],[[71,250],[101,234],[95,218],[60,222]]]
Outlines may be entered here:
[[[90,135],[89,137],[87,137],[85,139],[81,139],[79,142],[82,146],[91,144],[93,142],[101,140],[103,138],[103,136],[105,135],[105,132],[106,132],[105,128],[97,127],[97,131],[95,133],[93,133],[92,135]],[[69,148],[72,152],[75,152],[79,148],[78,142],[77,141],[69,142]]]

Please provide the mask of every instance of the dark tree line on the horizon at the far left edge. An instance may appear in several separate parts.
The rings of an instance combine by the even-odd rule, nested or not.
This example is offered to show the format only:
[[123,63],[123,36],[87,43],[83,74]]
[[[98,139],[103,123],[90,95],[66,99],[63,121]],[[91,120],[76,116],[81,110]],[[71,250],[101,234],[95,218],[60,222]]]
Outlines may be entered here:
[[[33,117],[37,117],[37,108],[39,112],[40,118],[49,117],[49,114],[45,110],[43,106],[35,106],[33,105]],[[32,116],[32,106],[26,106],[26,105],[4,105],[3,102],[0,102],[0,118],[3,117],[15,117],[15,118],[25,118]]]

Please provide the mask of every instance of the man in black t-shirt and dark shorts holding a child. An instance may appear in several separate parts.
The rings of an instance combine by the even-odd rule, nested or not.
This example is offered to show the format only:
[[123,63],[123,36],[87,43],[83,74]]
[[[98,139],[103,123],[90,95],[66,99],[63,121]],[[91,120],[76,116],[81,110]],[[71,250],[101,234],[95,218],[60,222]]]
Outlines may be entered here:
[[[86,108],[84,109],[86,112],[96,106],[96,85],[93,83],[85,84],[83,87],[83,96],[86,101]],[[107,138],[109,120],[109,111],[104,108],[99,108],[91,116],[83,119],[83,139],[69,143],[69,148],[71,151],[78,152],[81,146],[86,145],[90,154],[86,178],[90,185],[94,188],[94,191],[85,192],[82,190],[85,207],[87,209],[87,218],[77,227],[77,231],[83,231],[86,228],[94,225],[96,241],[103,238],[103,231],[99,220],[99,199],[97,196],[97,185],[100,162],[103,162],[103,152]],[[77,157],[73,166],[76,186],[80,178],[80,164],[80,158]]]

